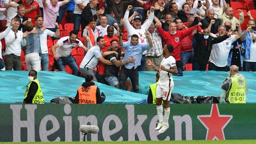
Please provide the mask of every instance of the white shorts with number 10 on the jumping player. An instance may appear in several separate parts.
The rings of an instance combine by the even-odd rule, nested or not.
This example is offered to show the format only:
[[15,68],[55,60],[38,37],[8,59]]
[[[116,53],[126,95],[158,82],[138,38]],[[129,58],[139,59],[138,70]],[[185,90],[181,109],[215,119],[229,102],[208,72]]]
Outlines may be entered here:
[[173,85],[162,86],[158,85],[156,87],[156,98],[162,98],[162,100],[170,100],[171,99],[171,91],[173,89]]

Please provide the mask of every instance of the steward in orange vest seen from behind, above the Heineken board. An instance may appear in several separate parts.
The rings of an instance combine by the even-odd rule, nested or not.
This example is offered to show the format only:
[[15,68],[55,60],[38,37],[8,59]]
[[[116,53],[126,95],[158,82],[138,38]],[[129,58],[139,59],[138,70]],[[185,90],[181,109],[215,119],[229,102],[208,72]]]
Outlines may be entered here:
[[85,82],[77,89],[75,104],[101,104],[100,89],[92,82],[92,75],[85,76]]

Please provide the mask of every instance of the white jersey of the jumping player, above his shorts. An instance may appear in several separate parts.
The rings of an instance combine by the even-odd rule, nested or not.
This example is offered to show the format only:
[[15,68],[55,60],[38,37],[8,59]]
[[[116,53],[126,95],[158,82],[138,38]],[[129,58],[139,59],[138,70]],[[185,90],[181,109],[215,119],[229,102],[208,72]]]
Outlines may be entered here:
[[[173,56],[164,57],[161,62],[161,66],[164,66],[166,69],[171,69],[172,66],[176,66],[176,61]],[[160,71],[159,75],[160,77],[158,80],[158,85],[162,85],[165,87],[168,85],[174,85],[172,73],[167,71]]]

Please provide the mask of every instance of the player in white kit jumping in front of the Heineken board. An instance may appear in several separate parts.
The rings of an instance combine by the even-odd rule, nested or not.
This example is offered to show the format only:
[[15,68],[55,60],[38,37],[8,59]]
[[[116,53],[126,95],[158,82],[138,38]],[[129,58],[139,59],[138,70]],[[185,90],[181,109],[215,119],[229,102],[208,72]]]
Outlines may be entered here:
[[[172,73],[177,74],[178,69],[174,57],[171,56],[171,52],[174,47],[171,44],[167,44],[163,48],[164,59],[161,62],[161,66],[155,66],[150,60],[147,61],[147,65],[151,66],[156,71],[160,72],[158,85],[156,87],[156,113],[158,114],[158,126],[155,130],[159,130],[159,133],[164,133],[169,128],[169,100],[171,98],[171,91],[174,87],[174,81],[172,79]],[[164,102],[164,116],[162,101]]]

